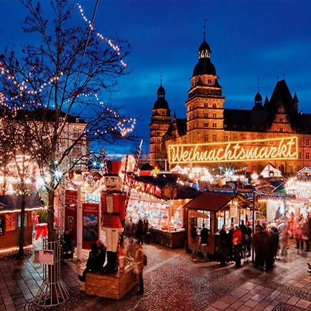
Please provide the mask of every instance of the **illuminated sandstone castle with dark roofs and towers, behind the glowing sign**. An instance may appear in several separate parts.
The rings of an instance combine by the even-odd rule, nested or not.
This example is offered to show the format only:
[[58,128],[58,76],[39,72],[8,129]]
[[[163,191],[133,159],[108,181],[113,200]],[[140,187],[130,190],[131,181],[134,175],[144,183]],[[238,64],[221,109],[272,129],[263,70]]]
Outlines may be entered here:
[[[299,113],[298,97],[296,93],[292,96],[284,79],[276,83],[270,100],[266,97],[263,102],[258,91],[252,110],[226,109],[218,79],[211,62],[211,48],[204,38],[198,49],[198,63],[194,67],[185,103],[187,118],[179,119],[174,115],[171,120],[164,88],[161,85],[158,89],[158,100],[153,106],[150,124],[151,165],[163,168],[163,159],[169,158],[170,145],[214,144],[216,149],[220,149],[229,142],[261,140],[252,142],[252,147],[260,149],[268,144],[278,144],[280,138],[293,138],[297,141],[295,157],[228,161],[224,165],[261,172],[270,163],[285,173],[311,166],[311,114]],[[191,165],[191,161],[182,164]],[[207,167],[219,165],[216,161],[204,163]]]

